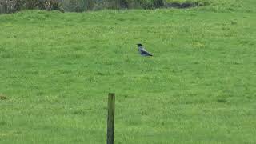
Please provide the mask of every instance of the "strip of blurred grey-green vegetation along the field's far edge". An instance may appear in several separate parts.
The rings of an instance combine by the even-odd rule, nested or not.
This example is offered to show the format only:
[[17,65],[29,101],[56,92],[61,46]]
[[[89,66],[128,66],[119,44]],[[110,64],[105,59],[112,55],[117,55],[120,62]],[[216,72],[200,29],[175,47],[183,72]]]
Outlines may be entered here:
[[102,9],[186,8],[206,4],[208,1],[204,0],[0,0],[0,14],[25,9],[82,12]]

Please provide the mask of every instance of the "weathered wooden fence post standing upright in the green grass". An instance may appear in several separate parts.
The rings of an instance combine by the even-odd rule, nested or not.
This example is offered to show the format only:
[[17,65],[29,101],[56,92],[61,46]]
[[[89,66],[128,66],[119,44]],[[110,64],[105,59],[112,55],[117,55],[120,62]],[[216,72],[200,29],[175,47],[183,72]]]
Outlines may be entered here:
[[114,144],[114,96],[110,93],[108,98],[108,114],[107,114],[107,144]]

